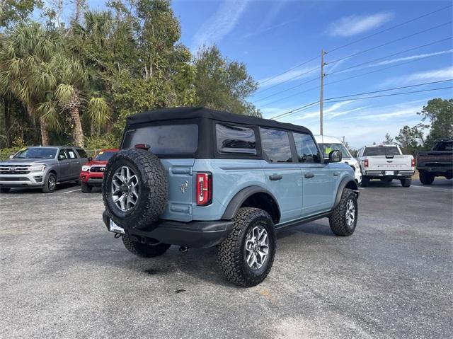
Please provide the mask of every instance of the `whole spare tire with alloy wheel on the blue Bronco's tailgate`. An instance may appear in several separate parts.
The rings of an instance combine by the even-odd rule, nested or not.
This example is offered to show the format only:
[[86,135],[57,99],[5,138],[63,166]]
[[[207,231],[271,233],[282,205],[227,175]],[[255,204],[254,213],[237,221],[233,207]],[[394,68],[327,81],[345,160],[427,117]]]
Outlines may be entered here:
[[123,228],[144,229],[164,212],[168,197],[165,168],[145,149],[123,149],[104,172],[103,200],[110,218]]

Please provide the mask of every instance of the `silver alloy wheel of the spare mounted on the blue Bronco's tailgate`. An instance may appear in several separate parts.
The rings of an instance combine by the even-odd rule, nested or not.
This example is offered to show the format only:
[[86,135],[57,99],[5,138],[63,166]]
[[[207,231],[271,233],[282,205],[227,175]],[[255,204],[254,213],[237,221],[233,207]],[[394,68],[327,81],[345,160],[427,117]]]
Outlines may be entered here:
[[112,195],[115,205],[122,212],[130,211],[139,199],[139,179],[132,168],[122,166],[115,171],[112,179]]

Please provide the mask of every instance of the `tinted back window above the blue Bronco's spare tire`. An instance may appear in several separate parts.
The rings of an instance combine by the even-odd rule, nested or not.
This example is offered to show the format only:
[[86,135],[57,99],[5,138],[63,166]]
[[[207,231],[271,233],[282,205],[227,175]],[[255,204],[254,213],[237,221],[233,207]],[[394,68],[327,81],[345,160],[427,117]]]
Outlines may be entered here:
[[145,126],[129,130],[122,142],[123,149],[136,144],[149,144],[159,155],[194,154],[198,147],[198,125]]

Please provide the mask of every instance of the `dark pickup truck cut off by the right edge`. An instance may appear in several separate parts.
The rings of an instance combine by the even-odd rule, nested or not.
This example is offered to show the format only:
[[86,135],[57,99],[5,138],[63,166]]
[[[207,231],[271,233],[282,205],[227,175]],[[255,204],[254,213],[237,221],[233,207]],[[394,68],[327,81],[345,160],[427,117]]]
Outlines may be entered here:
[[431,185],[436,176],[453,178],[453,139],[440,140],[431,151],[419,152],[417,169],[423,185]]

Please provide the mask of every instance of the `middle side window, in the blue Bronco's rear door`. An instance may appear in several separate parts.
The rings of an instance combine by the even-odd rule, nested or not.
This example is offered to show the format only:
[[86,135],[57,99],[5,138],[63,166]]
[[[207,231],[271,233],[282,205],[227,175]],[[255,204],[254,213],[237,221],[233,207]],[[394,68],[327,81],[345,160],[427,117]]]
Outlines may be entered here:
[[260,128],[264,159],[273,163],[292,162],[289,136],[285,131]]

